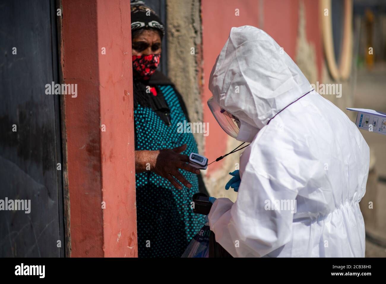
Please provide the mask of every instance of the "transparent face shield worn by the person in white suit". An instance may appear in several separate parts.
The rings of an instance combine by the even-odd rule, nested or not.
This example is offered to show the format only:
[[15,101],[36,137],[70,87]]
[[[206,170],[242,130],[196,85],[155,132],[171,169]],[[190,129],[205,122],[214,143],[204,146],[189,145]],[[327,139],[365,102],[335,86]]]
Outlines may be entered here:
[[208,106],[213,116],[216,118],[221,128],[231,137],[237,138],[239,134],[240,121],[237,117],[220,108],[218,103],[212,98],[208,100]]

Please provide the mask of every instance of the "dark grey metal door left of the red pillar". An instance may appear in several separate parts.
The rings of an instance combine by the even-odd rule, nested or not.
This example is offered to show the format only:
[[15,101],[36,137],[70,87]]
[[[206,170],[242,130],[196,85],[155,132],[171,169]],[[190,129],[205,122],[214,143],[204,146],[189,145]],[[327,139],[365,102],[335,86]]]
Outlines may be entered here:
[[0,0],[0,202],[30,200],[30,213],[0,210],[0,257],[64,256],[60,97],[45,92],[60,83],[56,13]]

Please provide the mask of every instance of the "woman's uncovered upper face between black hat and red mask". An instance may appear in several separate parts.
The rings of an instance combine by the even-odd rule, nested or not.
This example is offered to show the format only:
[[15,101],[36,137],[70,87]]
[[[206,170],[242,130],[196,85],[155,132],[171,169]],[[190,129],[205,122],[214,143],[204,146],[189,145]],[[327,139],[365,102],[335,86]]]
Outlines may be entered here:
[[154,30],[144,30],[132,39],[132,54],[141,56],[161,53],[161,37]]

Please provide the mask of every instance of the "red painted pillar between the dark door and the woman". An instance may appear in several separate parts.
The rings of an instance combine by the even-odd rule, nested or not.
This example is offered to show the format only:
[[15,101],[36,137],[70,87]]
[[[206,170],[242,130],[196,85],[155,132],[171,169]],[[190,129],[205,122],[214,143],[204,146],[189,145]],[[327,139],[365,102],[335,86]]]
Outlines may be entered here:
[[62,7],[71,256],[137,257],[130,2]]

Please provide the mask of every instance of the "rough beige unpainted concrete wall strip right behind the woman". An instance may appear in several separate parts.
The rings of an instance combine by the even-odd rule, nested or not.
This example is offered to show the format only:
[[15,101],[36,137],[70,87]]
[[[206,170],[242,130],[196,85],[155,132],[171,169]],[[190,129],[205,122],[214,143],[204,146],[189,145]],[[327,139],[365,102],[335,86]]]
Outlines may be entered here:
[[[203,122],[201,102],[202,46],[200,2],[168,0],[166,2],[168,39],[168,76],[181,93],[191,122]],[[202,133],[196,133],[198,151],[203,154]]]

